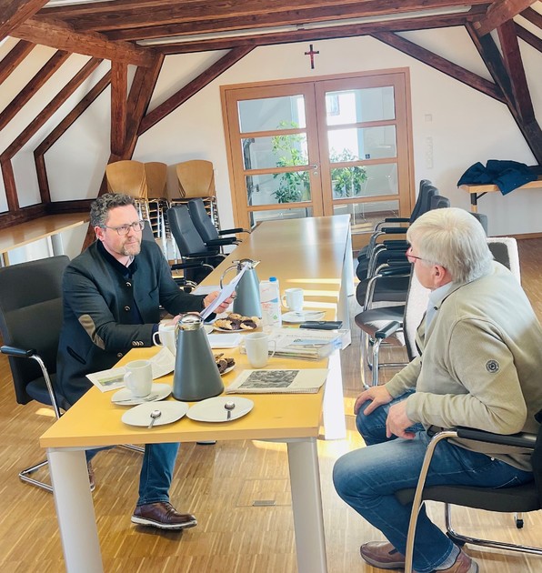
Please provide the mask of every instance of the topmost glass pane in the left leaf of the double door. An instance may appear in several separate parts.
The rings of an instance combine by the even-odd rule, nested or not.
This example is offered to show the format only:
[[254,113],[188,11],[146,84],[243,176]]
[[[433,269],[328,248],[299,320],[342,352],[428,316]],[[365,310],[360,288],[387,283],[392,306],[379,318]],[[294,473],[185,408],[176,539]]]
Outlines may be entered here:
[[290,126],[292,122],[298,127],[306,127],[303,95],[246,99],[237,105],[241,133],[269,131],[284,123]]

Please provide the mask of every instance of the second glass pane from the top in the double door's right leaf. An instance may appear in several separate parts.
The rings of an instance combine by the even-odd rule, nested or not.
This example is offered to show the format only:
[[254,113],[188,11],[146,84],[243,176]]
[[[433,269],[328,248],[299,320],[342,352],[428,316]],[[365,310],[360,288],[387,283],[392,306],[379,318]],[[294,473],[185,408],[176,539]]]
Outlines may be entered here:
[[356,161],[396,156],[396,126],[333,129],[327,132],[329,160]]

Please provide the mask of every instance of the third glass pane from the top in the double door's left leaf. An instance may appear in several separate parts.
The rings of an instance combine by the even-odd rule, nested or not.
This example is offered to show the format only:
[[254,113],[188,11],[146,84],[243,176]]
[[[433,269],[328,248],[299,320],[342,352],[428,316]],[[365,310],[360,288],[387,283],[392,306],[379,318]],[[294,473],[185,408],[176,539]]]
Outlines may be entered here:
[[276,205],[310,201],[308,171],[246,176],[247,205]]

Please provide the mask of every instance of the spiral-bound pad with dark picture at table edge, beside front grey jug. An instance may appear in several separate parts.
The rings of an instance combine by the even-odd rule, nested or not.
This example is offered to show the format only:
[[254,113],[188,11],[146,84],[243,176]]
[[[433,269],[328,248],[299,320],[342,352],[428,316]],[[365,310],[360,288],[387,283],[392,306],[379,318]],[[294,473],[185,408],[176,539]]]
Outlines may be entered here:
[[315,394],[326,382],[326,368],[245,370],[226,394]]

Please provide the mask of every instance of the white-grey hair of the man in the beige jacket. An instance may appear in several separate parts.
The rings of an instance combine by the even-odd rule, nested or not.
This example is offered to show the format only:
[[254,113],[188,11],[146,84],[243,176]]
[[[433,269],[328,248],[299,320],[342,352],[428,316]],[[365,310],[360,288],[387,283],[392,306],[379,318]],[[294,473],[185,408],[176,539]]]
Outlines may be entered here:
[[407,241],[416,243],[422,261],[444,266],[453,282],[467,283],[487,275],[493,255],[479,221],[464,209],[427,211],[408,227]]

